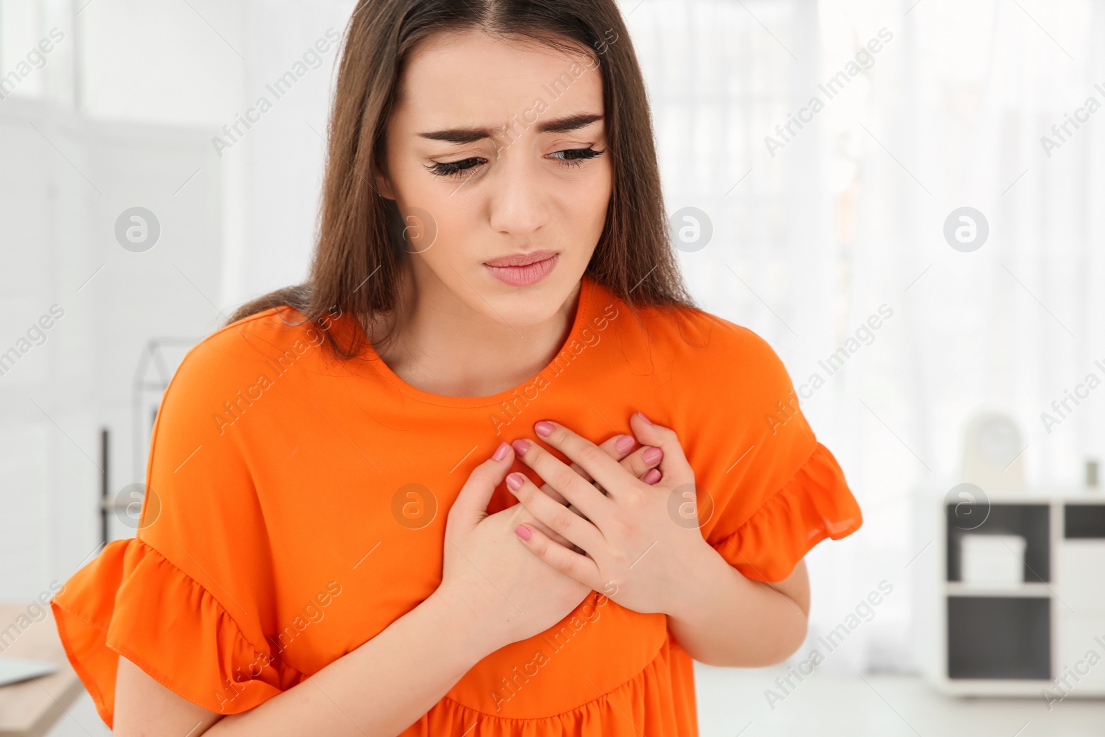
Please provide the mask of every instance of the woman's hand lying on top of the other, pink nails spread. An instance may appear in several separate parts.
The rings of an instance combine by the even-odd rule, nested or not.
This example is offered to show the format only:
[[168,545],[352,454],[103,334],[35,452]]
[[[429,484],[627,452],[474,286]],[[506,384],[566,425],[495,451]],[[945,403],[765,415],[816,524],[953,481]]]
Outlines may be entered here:
[[530,525],[519,525],[515,533],[545,562],[622,607],[671,613],[685,599],[684,589],[696,580],[695,571],[703,570],[706,557],[717,552],[702,537],[694,471],[675,432],[653,424],[640,412],[630,419],[630,428],[640,443],[663,453],[662,476],[652,485],[564,425],[547,420],[534,425],[541,440],[590,474],[606,494],[537,443],[514,441],[517,456],[587,518],[541,492],[524,474],[508,475],[507,488],[534,517],[586,555]]

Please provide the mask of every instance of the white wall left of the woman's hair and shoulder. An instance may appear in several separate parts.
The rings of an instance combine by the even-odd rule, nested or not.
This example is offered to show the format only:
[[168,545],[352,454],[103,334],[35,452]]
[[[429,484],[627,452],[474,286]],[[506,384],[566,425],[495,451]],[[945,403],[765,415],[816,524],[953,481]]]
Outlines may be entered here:
[[[280,99],[266,85],[339,34],[349,4],[0,0],[0,75],[62,36],[0,101],[0,351],[65,310],[0,376],[0,599],[38,594],[94,549],[102,427],[110,491],[141,481],[148,341],[198,340],[305,275],[336,48]],[[272,109],[220,156],[213,139],[261,95]],[[135,206],[161,227],[144,253],[114,234]]]

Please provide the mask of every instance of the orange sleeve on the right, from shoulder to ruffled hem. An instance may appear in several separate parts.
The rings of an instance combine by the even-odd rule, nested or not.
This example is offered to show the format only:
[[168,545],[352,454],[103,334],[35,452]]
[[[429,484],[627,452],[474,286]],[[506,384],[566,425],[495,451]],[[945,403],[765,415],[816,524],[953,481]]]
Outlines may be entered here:
[[863,516],[775,350],[751,330],[711,318],[699,366],[720,368],[699,378],[713,391],[697,423],[724,441],[691,449],[712,471],[699,477],[696,468],[699,518],[708,515],[703,534],[745,577],[780,581],[821,540],[859,529]]

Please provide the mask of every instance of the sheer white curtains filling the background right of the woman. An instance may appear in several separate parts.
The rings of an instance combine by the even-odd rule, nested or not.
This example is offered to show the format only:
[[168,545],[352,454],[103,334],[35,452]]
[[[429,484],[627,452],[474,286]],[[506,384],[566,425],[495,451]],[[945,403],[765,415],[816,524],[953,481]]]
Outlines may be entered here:
[[[1094,217],[1105,113],[1077,110],[1088,97],[1105,105],[1093,44],[1105,11],[1088,0],[623,8],[669,211],[698,207],[713,223],[712,242],[682,254],[692,289],[808,385],[803,411],[864,512],[860,531],[809,556],[810,640],[794,660],[885,580],[893,593],[823,668],[909,670],[906,566],[932,552],[911,534],[911,497],[958,483],[969,419],[992,409],[1018,421],[1030,486],[1081,483],[1084,461],[1105,451],[1105,399],[1050,433],[1040,417],[1088,373],[1105,378],[1094,365],[1105,359]],[[812,97],[823,107],[787,131]],[[1088,122],[1060,139],[1051,126],[1067,113]],[[1045,135],[1060,144],[1050,156]],[[989,224],[969,253],[944,235],[960,207]],[[880,327],[864,330],[873,315]]]

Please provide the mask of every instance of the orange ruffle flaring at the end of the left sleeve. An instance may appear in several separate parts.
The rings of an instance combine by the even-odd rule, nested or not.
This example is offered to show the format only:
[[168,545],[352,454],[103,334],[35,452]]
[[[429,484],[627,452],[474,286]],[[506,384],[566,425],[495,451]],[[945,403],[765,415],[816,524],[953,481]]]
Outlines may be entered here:
[[222,714],[253,708],[298,681],[249,642],[211,593],[137,538],[108,544],[52,608],[65,653],[109,727],[119,655]]

